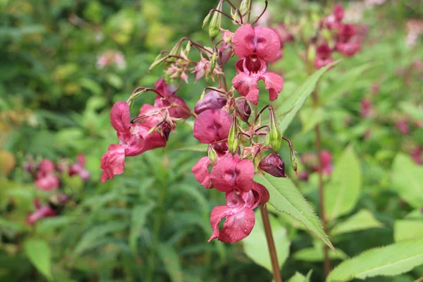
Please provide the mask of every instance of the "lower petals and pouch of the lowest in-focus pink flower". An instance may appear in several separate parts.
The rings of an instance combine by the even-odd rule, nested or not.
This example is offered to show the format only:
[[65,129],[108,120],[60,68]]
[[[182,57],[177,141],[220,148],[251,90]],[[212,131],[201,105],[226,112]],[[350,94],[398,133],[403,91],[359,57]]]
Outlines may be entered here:
[[[230,190],[226,192],[226,206],[217,206],[212,210],[210,223],[213,233],[209,242],[218,239],[221,242],[235,243],[250,235],[255,224],[253,209],[259,204],[269,201],[269,192],[266,188],[256,182],[252,183],[252,189],[248,192]],[[219,223],[223,217],[222,230],[219,230]]]

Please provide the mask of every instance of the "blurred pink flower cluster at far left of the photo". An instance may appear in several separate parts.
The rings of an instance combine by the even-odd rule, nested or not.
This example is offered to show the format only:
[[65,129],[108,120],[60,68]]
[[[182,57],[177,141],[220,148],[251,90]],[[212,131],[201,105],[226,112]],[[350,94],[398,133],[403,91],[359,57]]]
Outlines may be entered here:
[[61,159],[58,164],[54,164],[50,159],[43,159],[38,165],[30,159],[24,164],[24,168],[31,173],[39,190],[54,191],[46,205],[40,204],[39,197],[35,199],[36,210],[27,216],[27,222],[31,225],[39,219],[59,215],[66,203],[71,200],[71,197],[63,192],[61,176],[78,176],[85,182],[90,180],[90,172],[85,169],[83,154],[78,154],[77,161],[71,165],[67,159]]

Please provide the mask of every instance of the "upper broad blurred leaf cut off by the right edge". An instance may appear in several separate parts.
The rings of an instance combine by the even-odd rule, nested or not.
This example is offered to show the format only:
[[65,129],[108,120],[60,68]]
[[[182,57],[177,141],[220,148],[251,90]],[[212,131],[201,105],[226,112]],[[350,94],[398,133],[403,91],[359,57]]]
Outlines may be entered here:
[[410,157],[398,154],[393,160],[393,188],[398,195],[416,209],[423,206],[423,167],[417,166]]

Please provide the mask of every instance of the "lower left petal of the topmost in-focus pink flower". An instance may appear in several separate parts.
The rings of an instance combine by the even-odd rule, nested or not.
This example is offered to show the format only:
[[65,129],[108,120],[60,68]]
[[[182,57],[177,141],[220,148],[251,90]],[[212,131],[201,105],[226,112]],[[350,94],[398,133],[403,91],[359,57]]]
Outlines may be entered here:
[[247,99],[248,102],[257,105],[259,102],[259,87],[257,81],[259,75],[248,75],[247,73],[238,73],[232,80],[233,87]]

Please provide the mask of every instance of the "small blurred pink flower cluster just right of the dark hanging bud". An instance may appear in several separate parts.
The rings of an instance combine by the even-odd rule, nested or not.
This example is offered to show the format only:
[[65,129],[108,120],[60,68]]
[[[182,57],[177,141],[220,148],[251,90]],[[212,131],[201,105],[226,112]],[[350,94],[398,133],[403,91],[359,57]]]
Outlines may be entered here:
[[[326,176],[330,176],[333,170],[332,164],[332,154],[327,150],[323,150],[320,153],[321,157],[321,171]],[[305,152],[301,155],[300,158],[301,164],[305,167],[304,171],[298,173],[298,178],[300,180],[307,181],[309,178],[309,173],[319,171],[319,159],[316,154]]]

